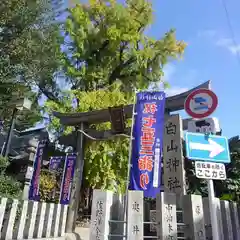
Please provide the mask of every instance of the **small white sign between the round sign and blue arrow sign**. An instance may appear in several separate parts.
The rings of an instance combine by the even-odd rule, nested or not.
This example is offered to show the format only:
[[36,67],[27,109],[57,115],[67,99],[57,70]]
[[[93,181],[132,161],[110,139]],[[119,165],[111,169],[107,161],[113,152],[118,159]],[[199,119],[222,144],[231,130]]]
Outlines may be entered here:
[[188,132],[216,134],[218,132],[221,132],[221,129],[218,119],[213,117],[189,121]]

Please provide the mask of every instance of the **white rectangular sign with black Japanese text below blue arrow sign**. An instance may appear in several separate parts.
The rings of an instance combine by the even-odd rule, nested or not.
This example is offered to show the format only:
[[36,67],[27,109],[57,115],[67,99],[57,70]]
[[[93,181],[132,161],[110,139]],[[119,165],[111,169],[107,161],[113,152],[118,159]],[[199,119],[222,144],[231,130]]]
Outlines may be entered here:
[[195,162],[197,178],[225,180],[227,178],[225,165],[213,162]]

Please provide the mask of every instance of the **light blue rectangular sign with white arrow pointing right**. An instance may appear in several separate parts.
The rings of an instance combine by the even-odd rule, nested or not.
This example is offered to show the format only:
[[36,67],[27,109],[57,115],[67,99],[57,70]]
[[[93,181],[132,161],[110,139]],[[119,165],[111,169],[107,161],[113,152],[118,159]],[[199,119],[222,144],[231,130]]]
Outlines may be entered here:
[[185,141],[188,159],[230,163],[226,137],[187,132]]

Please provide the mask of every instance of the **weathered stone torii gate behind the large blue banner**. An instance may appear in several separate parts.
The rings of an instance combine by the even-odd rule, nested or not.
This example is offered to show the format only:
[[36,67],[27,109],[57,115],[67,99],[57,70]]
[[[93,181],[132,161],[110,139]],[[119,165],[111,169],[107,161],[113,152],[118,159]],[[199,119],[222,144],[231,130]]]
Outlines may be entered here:
[[[210,89],[210,81],[207,81],[196,88],[193,88],[184,93],[167,97],[165,104],[165,114],[169,115],[171,112],[180,111],[184,109],[184,102],[187,96],[194,90],[199,88]],[[127,105],[123,107],[125,118],[132,118],[133,105]],[[108,131],[96,131],[89,129],[90,124],[103,123],[110,121],[109,109],[81,112],[81,113],[60,113],[54,112],[53,115],[60,119],[60,123],[65,126],[75,126],[76,131],[68,136],[60,138],[60,143],[65,145],[71,145],[76,147],[77,163],[75,166],[75,173],[72,184],[71,199],[68,210],[66,232],[73,232],[75,229],[75,220],[77,217],[80,189],[82,182],[82,173],[84,165],[84,140],[85,135],[88,134],[98,140],[104,140],[114,135],[110,130]],[[188,121],[191,119],[183,120],[183,129],[187,129]],[[126,134],[130,134],[130,129],[126,129]]]

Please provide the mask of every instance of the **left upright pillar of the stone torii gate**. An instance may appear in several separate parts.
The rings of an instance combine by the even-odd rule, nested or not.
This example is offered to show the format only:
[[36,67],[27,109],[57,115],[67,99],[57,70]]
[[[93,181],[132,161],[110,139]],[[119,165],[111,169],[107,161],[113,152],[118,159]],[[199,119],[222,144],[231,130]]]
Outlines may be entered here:
[[[80,130],[84,130],[84,123],[80,124]],[[84,166],[84,135],[77,131],[77,162],[73,177],[71,198],[67,214],[66,232],[71,233],[75,230],[76,217],[78,213],[79,197],[82,184]]]

